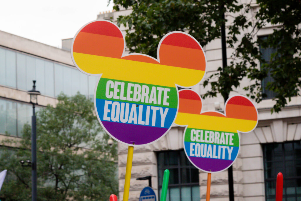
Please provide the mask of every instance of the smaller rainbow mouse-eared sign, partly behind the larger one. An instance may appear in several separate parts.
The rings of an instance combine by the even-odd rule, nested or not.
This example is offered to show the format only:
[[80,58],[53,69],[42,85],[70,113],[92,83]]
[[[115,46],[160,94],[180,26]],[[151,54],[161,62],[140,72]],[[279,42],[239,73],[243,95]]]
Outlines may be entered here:
[[225,114],[202,110],[202,99],[193,90],[179,92],[179,109],[175,124],[186,126],[184,150],[190,162],[202,171],[220,172],[237,158],[238,131],[252,131],[258,123],[258,112],[250,99],[236,95],[225,103]]

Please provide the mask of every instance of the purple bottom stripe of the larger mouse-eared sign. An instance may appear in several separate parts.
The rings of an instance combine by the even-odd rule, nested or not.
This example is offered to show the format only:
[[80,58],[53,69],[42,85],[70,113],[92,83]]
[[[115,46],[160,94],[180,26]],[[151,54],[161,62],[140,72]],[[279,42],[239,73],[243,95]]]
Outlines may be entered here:
[[160,138],[167,128],[157,128],[150,126],[123,124],[118,122],[101,121],[109,133],[114,133],[118,140],[135,145],[151,143]]

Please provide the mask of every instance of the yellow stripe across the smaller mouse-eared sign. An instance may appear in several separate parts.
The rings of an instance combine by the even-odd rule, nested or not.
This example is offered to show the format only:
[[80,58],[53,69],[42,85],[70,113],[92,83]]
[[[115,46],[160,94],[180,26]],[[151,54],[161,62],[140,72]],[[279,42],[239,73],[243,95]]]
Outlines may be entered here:
[[252,130],[257,121],[178,112],[175,123],[188,125],[189,128],[236,133],[237,130],[241,132]]

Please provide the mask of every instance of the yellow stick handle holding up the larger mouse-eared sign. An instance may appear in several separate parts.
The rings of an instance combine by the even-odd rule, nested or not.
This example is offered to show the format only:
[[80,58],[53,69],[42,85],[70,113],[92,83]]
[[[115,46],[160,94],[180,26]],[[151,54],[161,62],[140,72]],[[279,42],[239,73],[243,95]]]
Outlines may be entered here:
[[123,201],[128,201],[129,200],[130,181],[131,181],[132,162],[133,162],[133,152],[134,152],[134,147],[129,146],[129,148],[128,148],[128,158],[126,160],[126,178],[125,178],[125,181],[124,181]]

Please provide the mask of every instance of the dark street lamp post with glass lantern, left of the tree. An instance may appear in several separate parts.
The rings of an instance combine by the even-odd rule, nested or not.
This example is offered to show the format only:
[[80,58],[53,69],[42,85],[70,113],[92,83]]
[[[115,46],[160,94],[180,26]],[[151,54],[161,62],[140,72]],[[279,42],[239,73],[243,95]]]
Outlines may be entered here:
[[38,104],[38,95],[41,93],[36,90],[36,80],[33,80],[33,89],[28,91],[27,94],[30,95],[30,103],[33,104],[33,116],[31,117],[31,180],[32,180],[32,190],[31,190],[31,200],[37,200],[37,145],[36,145],[36,112],[35,105]]

